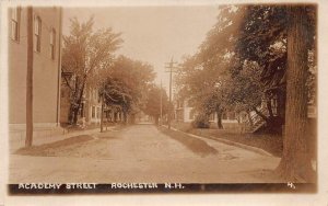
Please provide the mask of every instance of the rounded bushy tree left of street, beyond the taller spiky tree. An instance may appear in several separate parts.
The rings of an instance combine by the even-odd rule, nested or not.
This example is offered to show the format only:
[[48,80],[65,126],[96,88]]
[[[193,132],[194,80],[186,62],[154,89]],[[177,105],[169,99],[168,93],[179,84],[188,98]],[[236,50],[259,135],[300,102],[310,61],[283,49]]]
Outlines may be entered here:
[[102,75],[99,95],[108,106],[116,105],[122,112],[124,123],[144,106],[147,88],[154,79],[152,66],[125,56],[115,59],[113,67]]

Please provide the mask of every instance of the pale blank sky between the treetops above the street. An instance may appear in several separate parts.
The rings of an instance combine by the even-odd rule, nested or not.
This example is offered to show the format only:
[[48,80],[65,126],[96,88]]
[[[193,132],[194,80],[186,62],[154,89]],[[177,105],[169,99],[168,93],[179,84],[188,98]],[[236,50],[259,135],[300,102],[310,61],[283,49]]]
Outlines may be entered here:
[[168,88],[165,62],[180,62],[197,52],[208,31],[216,22],[218,5],[65,8],[63,34],[70,19],[80,22],[94,15],[94,30],[112,27],[121,33],[124,43],[117,55],[145,61],[154,67],[155,82]]

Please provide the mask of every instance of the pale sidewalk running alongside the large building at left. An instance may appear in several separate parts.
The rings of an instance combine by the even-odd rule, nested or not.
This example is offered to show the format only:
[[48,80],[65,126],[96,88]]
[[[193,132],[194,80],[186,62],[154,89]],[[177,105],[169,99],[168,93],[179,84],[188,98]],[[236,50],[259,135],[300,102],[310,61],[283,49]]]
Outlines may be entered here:
[[[108,126],[107,130],[115,128],[116,126]],[[106,130],[106,129],[105,129]],[[60,141],[70,137],[80,136],[80,135],[92,135],[101,133],[101,128],[92,128],[85,130],[73,130],[70,133],[66,133],[63,135],[56,135],[56,136],[43,136],[43,137],[34,137],[33,138],[33,146],[39,146],[44,144],[50,144],[55,141]],[[9,141],[10,153],[14,152],[15,150],[24,147],[25,139],[15,139]]]

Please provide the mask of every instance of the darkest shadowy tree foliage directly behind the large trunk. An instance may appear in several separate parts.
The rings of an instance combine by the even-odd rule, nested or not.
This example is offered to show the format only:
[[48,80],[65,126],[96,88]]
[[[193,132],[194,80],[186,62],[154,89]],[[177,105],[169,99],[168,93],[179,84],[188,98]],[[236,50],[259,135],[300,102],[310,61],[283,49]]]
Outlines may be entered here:
[[[307,7],[307,53],[315,54],[315,9]],[[288,11],[286,5],[248,5],[236,41],[236,57],[239,62],[258,64],[261,84],[261,101],[266,103],[267,114],[260,116],[267,122],[269,131],[281,131],[285,117],[286,66],[288,66]],[[312,68],[315,66],[312,65]],[[243,68],[233,67],[233,76],[238,76]],[[307,73],[307,88],[314,88],[313,76]],[[315,93],[308,90],[309,94]],[[276,100],[277,113],[273,115],[272,102]]]

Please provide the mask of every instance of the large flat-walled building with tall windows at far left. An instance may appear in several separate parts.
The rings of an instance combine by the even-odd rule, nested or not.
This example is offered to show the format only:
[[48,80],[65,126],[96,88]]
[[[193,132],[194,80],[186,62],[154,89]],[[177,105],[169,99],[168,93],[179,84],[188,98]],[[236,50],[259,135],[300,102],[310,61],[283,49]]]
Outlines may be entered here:
[[[9,127],[25,137],[27,75],[27,8],[9,9]],[[61,133],[60,52],[61,9],[33,8],[33,122],[34,136]]]

